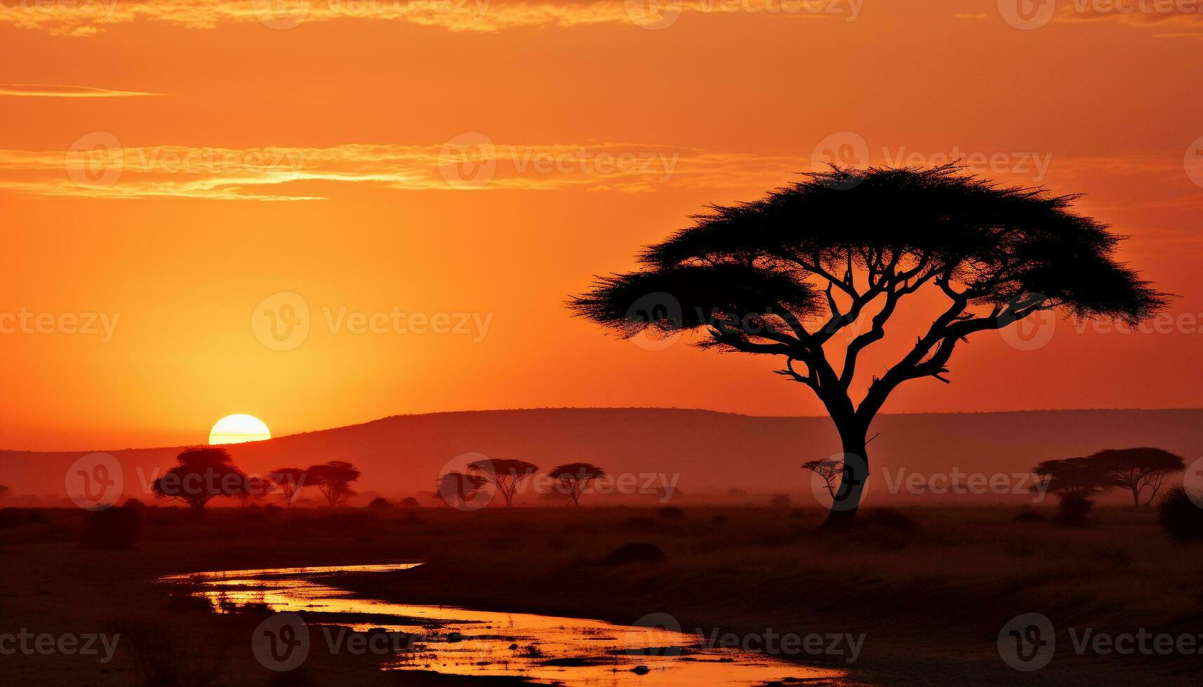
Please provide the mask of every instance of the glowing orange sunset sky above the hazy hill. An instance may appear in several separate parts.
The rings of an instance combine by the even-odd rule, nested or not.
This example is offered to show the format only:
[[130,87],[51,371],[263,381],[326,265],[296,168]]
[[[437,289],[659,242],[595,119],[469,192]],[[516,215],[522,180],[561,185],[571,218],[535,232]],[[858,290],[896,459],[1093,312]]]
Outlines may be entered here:
[[[1180,296],[1160,331],[980,334],[952,385],[885,411],[1198,407],[1203,13],[1061,4],[1025,30],[992,0],[802,1],[666,2],[652,30],[622,1],[313,0],[260,12],[292,26],[272,29],[249,1],[0,0],[0,448],[202,442],[230,413],[275,436],[480,408],[820,414],[777,361],[645,350],[563,301],[826,149],[1088,194]],[[97,142],[111,185],[66,154]],[[448,142],[499,162],[464,184]],[[251,326],[279,292],[310,313],[290,350]],[[452,331],[348,331],[395,308]]]

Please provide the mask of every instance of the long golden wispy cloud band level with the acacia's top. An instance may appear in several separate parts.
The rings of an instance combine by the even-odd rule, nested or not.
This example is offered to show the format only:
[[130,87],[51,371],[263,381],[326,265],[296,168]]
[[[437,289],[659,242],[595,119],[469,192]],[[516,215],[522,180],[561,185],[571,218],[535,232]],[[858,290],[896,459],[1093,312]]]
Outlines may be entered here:
[[484,135],[438,146],[253,149],[123,148],[108,135],[97,136],[69,152],[0,150],[0,190],[42,197],[301,201],[326,197],[339,184],[611,193],[768,188],[800,171],[796,156],[645,143],[494,144]]

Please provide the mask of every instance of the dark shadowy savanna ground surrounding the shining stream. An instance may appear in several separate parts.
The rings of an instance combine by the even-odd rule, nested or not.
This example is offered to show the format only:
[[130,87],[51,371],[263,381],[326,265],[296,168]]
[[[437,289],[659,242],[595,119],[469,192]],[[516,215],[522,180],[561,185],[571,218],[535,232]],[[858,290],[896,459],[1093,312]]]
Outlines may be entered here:
[[[322,652],[303,669],[273,673],[247,639],[262,616],[212,614],[155,582],[202,570],[422,561],[331,584],[395,602],[622,624],[669,614],[704,635],[864,635],[852,663],[846,651],[780,656],[847,670],[847,685],[1198,683],[1203,655],[1079,653],[1074,641],[1088,629],[1198,639],[1203,546],[1169,541],[1152,511],[1102,509],[1085,528],[1017,521],[1017,513],[870,509],[855,532],[824,534],[817,510],[761,508],[231,508],[200,520],[150,508],[134,549],[105,551],[79,546],[88,514],[45,510],[0,529],[0,633],[122,639],[108,663],[60,651],[2,656],[0,682],[498,682],[383,671],[378,656]],[[608,561],[630,543],[652,544],[664,558]],[[1011,668],[997,644],[1005,623],[1027,612],[1047,616],[1056,633],[1053,659],[1033,673]]]

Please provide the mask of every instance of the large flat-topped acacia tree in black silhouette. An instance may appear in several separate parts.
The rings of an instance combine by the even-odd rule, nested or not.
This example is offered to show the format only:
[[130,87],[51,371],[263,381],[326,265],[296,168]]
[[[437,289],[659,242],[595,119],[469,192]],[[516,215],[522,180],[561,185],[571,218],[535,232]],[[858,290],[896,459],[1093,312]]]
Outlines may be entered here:
[[[1165,306],[1115,260],[1120,237],[1069,212],[1075,197],[953,165],[808,173],[758,201],[710,206],[647,247],[638,271],[599,277],[569,307],[624,337],[704,330],[699,345],[784,357],[780,374],[813,391],[840,433],[843,475],[824,527],[842,529],[869,478],[873,417],[905,381],[947,383],[959,342],[1042,310],[1136,322]],[[946,308],[855,402],[860,353],[920,289]]]

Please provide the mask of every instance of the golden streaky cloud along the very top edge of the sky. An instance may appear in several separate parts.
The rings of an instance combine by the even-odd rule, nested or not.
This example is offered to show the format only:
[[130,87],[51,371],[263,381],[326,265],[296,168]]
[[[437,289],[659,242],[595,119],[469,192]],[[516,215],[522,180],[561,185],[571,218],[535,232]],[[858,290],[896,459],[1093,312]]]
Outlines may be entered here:
[[257,22],[291,29],[308,22],[374,19],[498,31],[520,26],[630,24],[668,28],[688,13],[754,13],[855,19],[864,0],[2,0],[0,24],[88,36],[117,24],[166,22],[191,29]]

